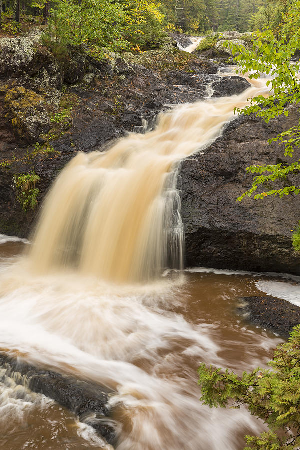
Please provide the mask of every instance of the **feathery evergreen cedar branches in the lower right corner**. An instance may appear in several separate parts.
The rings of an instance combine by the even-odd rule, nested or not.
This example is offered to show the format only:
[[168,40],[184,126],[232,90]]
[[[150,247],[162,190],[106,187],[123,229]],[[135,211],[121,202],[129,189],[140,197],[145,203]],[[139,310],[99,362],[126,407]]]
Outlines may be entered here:
[[[227,369],[201,364],[198,369],[200,400],[210,407],[245,404],[252,415],[267,423],[270,432],[246,436],[244,450],[298,450],[300,446],[300,325],[287,343],[274,350],[272,370],[254,369],[237,376]],[[283,430],[284,433],[276,432]]]

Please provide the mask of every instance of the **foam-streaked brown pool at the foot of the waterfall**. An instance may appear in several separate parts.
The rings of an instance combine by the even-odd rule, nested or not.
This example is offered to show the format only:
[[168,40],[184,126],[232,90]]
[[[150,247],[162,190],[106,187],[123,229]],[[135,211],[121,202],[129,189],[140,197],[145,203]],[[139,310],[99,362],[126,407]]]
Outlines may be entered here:
[[[255,283],[271,277],[185,272],[180,283],[166,277],[152,291],[117,293],[71,275],[67,286],[44,277],[17,285],[22,246],[0,245],[5,279],[14,272],[13,291],[0,299],[2,350],[116,389],[118,449],[240,450],[245,433],[262,430],[245,410],[202,406],[196,368],[201,361],[237,372],[266,364],[279,339],[234,308],[239,297],[261,294]],[[106,448],[61,406],[0,380],[0,448]]]

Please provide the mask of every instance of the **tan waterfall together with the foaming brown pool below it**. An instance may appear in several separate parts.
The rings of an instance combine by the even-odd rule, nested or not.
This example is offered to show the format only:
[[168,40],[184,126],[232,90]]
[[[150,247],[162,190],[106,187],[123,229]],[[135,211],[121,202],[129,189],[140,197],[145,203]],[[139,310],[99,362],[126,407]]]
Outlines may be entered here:
[[[79,153],[52,187],[33,244],[0,238],[0,352],[113,389],[118,450],[239,450],[245,433],[263,429],[243,409],[202,406],[196,369],[266,364],[279,339],[233,309],[271,279],[182,272],[175,188],[180,159],[205,151],[233,108],[258,93],[267,95],[265,80],[238,96],[176,106],[154,131],[105,152]],[[5,371],[0,423],[5,449],[107,448]]]

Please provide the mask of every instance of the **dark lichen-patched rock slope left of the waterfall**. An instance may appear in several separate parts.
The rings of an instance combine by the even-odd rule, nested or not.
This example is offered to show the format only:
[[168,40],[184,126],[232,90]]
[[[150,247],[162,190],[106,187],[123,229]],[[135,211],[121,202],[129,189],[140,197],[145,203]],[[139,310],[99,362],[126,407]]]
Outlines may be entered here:
[[[87,55],[83,48],[70,48],[62,67],[41,45],[40,35],[35,30],[31,37],[0,39],[0,232],[4,234],[28,236],[37,212],[22,211],[14,175],[35,171],[40,176],[40,205],[76,151],[98,150],[138,130],[141,118],[153,121],[165,104],[202,99],[205,84],[217,72],[213,62],[173,45],[104,60]],[[52,131],[51,119],[60,101],[71,105],[71,118],[57,132]],[[48,144],[39,149],[36,142]]]

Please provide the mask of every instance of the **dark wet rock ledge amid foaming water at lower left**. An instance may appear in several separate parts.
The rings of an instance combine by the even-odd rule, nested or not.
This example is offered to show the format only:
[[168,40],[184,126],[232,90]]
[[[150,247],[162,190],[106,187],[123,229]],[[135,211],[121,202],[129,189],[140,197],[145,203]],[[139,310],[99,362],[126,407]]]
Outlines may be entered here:
[[[26,375],[26,385],[37,393],[42,393],[74,412],[79,420],[84,421],[98,431],[108,443],[114,443],[116,432],[112,426],[106,406],[108,395],[112,392],[102,386],[78,381],[60,373],[39,370],[34,366],[0,355],[0,367],[6,369],[10,376],[13,372]],[[22,383],[22,377],[14,377]],[[95,417],[89,417],[95,415]]]

